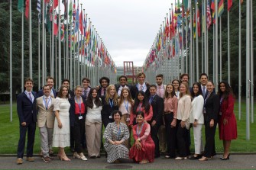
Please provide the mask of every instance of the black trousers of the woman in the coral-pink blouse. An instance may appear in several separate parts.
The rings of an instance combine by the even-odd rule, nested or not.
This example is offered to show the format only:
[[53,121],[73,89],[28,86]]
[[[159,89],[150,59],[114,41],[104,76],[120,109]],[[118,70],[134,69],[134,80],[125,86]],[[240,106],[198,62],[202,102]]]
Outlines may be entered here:
[[167,133],[167,154],[170,157],[175,157],[177,149],[177,126],[170,127],[173,121],[173,113],[164,114],[165,130]]

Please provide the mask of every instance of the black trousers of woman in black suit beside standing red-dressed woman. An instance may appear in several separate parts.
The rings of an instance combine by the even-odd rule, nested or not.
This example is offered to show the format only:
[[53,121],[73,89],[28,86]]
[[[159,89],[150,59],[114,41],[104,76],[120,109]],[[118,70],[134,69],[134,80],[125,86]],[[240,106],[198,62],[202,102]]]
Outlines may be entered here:
[[205,121],[205,133],[206,133],[206,146],[205,146],[205,152],[203,153],[203,156],[206,158],[210,158],[211,156],[215,156],[215,131],[217,126],[217,121],[214,121],[213,127],[210,127],[210,122]]

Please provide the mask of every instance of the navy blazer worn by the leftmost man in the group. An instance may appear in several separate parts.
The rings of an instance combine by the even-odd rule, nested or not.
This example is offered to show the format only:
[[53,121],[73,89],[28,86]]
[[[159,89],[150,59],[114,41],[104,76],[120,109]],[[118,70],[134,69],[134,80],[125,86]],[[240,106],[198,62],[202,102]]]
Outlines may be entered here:
[[20,123],[37,122],[37,93],[32,91],[32,95],[34,95],[33,103],[25,92],[22,92],[17,97],[17,113]]

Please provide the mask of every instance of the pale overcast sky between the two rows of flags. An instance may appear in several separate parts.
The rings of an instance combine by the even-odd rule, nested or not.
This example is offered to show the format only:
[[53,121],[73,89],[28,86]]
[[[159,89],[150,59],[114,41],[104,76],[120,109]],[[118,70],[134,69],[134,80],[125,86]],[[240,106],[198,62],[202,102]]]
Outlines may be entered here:
[[79,0],[116,66],[142,66],[173,0]]

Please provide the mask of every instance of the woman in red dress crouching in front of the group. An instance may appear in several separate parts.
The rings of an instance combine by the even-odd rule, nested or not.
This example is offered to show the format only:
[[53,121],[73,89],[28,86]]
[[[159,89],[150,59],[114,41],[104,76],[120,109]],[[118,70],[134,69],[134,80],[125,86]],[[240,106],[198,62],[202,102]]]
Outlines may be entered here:
[[151,126],[144,122],[144,113],[138,111],[136,114],[138,124],[132,128],[134,145],[129,152],[129,159],[141,164],[154,162],[154,141],[151,138]]

